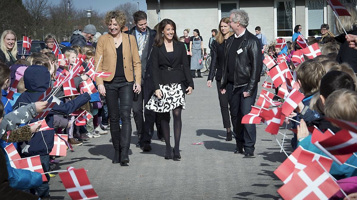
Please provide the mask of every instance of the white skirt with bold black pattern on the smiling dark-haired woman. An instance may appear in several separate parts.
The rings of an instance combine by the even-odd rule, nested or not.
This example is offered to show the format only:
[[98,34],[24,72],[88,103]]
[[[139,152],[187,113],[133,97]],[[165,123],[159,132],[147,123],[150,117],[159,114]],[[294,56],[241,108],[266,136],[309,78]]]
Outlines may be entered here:
[[155,93],[152,94],[145,106],[147,109],[155,112],[169,112],[178,106],[185,109],[185,94],[183,94],[180,83],[160,84],[160,90],[163,95],[162,99],[157,98]]

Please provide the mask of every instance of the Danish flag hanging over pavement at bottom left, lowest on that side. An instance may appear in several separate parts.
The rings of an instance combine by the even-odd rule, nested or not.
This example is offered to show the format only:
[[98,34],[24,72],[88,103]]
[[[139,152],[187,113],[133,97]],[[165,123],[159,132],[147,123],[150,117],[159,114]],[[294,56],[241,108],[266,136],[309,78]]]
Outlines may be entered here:
[[67,168],[67,172],[62,172],[58,175],[71,199],[80,200],[98,198],[84,168],[75,169],[69,167]]

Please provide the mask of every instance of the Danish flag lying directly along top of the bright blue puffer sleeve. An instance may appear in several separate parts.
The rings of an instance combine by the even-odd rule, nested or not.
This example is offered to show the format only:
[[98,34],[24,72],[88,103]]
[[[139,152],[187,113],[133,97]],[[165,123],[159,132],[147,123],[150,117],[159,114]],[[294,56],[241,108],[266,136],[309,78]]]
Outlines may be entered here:
[[[38,172],[41,174],[44,173],[39,155],[12,160],[12,162],[14,163],[16,169],[27,169],[31,172]],[[47,181],[45,174],[42,174],[42,181]]]

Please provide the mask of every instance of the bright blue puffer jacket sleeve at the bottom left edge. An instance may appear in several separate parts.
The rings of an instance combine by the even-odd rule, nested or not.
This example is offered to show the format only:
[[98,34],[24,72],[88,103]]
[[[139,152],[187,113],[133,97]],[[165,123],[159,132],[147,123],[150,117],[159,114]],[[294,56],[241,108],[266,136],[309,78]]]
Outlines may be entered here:
[[38,188],[42,185],[42,175],[38,172],[31,172],[27,169],[15,169],[11,167],[9,158],[3,148],[5,154],[7,172],[9,173],[9,184],[11,188],[26,190],[31,188]]

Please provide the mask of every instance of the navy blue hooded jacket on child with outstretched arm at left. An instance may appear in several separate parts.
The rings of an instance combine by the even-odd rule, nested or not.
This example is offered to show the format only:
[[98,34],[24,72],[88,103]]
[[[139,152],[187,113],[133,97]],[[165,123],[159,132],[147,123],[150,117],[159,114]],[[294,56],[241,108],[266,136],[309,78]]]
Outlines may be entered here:
[[[51,76],[49,70],[42,65],[31,65],[24,72],[24,83],[26,91],[17,98],[13,108],[14,110],[31,102],[36,102],[39,97],[46,91],[51,84]],[[53,128],[53,115],[68,115],[76,111],[79,107],[86,104],[90,100],[88,93],[77,96],[74,100],[67,103],[56,104],[49,114],[45,117],[46,123]],[[49,102],[52,101],[52,97]],[[42,120],[34,119],[30,123]],[[53,148],[55,131],[39,131],[34,134],[29,142],[19,143],[19,147],[23,150],[23,157],[44,156],[48,155]]]

